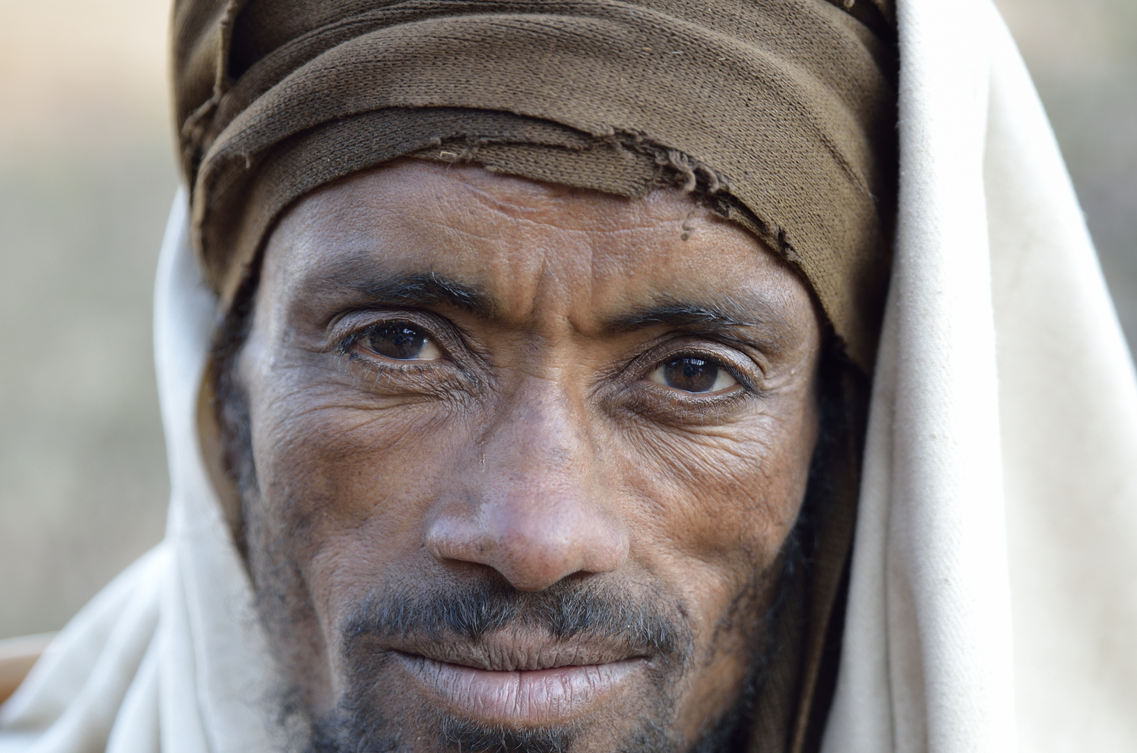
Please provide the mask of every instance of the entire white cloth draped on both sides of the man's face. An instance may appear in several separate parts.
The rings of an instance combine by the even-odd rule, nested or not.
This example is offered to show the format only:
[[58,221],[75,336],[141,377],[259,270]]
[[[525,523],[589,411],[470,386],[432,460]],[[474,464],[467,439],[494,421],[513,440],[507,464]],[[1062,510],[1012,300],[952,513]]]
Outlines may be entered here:
[[[824,753],[1137,751],[1137,379],[990,0],[898,0],[901,192]],[[166,539],[0,709],[0,753],[281,751],[201,460],[214,300],[163,245]]]

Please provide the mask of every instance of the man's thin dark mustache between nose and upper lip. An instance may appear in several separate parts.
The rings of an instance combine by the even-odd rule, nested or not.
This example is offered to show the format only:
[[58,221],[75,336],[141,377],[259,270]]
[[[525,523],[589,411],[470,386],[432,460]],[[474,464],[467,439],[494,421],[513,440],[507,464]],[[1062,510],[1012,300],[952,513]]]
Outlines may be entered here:
[[484,580],[442,588],[380,589],[340,622],[345,646],[367,638],[479,643],[501,630],[543,631],[554,640],[601,640],[630,652],[681,657],[692,631],[682,603],[652,589],[559,581],[540,591]]

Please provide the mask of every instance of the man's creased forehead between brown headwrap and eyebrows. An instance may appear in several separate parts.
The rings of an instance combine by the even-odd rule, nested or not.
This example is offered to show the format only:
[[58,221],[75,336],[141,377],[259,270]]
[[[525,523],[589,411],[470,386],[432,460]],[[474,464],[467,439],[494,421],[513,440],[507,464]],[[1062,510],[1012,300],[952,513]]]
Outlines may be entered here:
[[754,235],[678,190],[626,199],[420,160],[301,199],[266,250],[265,284],[285,299],[416,275],[478,291],[503,320],[586,328],[671,300],[812,306]]

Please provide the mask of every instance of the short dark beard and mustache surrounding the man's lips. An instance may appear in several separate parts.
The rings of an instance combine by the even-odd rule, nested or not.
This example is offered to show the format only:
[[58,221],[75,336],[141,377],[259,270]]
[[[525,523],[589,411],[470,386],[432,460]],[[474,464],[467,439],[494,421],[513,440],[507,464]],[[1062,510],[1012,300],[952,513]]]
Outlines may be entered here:
[[[767,579],[760,579],[766,581]],[[748,589],[757,594],[760,582]],[[745,750],[753,700],[762,681],[767,652],[757,634],[770,635],[775,605],[755,620],[747,680],[735,705],[707,730],[689,753]],[[581,725],[539,728],[490,726],[443,711],[392,708],[376,682],[390,661],[376,644],[392,638],[478,643],[496,631],[538,630],[554,639],[592,638],[620,645],[629,654],[652,657],[650,689],[634,709],[629,728],[606,733],[605,750],[619,753],[678,753],[674,735],[675,689],[698,659],[682,604],[657,593],[632,593],[613,586],[561,581],[542,591],[518,591],[499,580],[424,593],[385,588],[357,604],[339,631],[346,685],[335,709],[310,725],[307,753],[571,753],[587,731]],[[737,614],[742,617],[741,614]]]

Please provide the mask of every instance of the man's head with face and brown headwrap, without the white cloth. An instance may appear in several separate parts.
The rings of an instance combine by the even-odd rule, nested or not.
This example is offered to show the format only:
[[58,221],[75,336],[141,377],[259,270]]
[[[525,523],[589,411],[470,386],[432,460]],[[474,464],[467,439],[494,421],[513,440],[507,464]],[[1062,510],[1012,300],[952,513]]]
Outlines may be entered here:
[[204,102],[179,9],[232,520],[317,750],[818,737],[888,268],[870,9],[249,3]]

